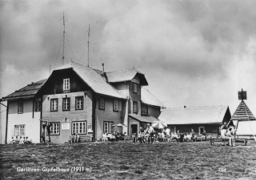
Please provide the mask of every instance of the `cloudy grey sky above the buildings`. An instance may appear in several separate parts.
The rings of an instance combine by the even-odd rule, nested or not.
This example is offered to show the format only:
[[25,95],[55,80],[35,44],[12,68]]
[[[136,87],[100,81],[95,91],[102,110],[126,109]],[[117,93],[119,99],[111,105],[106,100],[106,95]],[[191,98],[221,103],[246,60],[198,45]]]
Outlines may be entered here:
[[[2,1],[1,94],[65,63],[137,68],[168,108],[246,104],[256,115],[256,1]],[[50,66],[50,67],[49,67]]]

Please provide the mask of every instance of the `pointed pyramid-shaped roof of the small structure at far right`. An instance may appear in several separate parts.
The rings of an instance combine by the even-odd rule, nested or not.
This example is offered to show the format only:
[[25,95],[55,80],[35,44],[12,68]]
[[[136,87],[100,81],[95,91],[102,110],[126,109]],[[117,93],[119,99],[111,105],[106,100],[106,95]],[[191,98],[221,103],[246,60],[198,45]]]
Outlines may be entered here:
[[242,100],[230,120],[255,120],[255,117],[246,106],[246,103]]

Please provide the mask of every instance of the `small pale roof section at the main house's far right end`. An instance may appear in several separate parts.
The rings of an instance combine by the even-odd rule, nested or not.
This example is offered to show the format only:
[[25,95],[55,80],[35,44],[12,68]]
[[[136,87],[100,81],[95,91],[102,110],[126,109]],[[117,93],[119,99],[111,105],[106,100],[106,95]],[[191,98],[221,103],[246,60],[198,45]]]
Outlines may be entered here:
[[142,88],[142,103],[165,108],[165,106],[146,88]]

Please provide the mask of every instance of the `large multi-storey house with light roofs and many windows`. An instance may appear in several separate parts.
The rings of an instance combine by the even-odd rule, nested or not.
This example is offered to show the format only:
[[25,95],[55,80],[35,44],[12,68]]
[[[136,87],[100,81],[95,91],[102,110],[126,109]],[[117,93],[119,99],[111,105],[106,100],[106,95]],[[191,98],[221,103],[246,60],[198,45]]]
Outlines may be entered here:
[[[158,120],[163,104],[146,88],[146,77],[132,68],[104,72],[71,62],[54,70],[47,80],[3,97],[7,100],[6,141],[27,136],[42,141],[42,124],[51,123],[52,142],[67,142],[78,133],[83,139],[99,140],[102,133],[137,132]],[[124,124],[122,128],[115,124]]]

